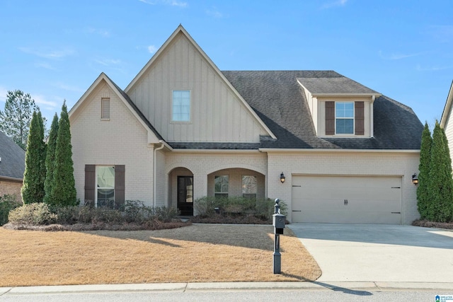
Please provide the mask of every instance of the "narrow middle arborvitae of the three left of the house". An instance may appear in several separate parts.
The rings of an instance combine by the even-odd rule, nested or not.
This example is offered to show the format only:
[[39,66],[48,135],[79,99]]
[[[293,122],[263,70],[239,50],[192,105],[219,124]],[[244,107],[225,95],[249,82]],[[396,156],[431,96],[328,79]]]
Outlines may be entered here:
[[47,141],[47,155],[45,157],[46,177],[44,182],[44,202],[54,204],[52,187],[54,186],[55,149],[57,148],[58,115],[55,113],[50,127],[49,140]]

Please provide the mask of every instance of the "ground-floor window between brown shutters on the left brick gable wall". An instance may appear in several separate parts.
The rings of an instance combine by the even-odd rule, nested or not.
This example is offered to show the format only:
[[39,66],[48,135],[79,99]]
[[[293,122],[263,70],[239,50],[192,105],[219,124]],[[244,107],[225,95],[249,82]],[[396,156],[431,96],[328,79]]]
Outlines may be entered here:
[[96,207],[115,209],[115,167],[96,166]]

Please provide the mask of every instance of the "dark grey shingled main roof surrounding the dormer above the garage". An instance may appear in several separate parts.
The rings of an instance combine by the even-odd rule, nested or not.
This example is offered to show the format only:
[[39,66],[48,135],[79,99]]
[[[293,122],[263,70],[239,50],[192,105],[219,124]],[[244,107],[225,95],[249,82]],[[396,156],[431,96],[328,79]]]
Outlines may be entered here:
[[268,125],[277,140],[270,149],[419,150],[423,124],[413,110],[384,95],[374,100],[374,137],[316,137],[303,88],[311,93],[377,93],[335,71],[222,71],[226,79]]

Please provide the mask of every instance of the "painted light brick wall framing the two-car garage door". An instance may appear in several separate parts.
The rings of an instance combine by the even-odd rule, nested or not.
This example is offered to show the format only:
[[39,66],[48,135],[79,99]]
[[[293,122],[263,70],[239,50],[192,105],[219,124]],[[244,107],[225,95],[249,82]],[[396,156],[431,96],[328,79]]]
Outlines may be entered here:
[[[418,173],[418,152],[304,152],[269,153],[268,197],[280,198],[289,204],[291,213],[292,175],[367,175],[401,176],[402,220],[410,224],[418,219],[416,187],[413,173]],[[280,173],[286,181],[280,182]],[[289,215],[289,221],[291,217]]]

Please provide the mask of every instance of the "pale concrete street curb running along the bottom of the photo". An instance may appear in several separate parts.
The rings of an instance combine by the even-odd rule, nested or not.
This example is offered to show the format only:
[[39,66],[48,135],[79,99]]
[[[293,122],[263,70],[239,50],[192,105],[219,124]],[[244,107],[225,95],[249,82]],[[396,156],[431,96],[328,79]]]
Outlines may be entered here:
[[246,291],[246,290],[453,290],[453,282],[210,282],[210,283],[156,283],[156,284],[90,284],[62,286],[0,287],[0,296],[29,294],[64,294],[90,292],[139,292],[139,291]]

